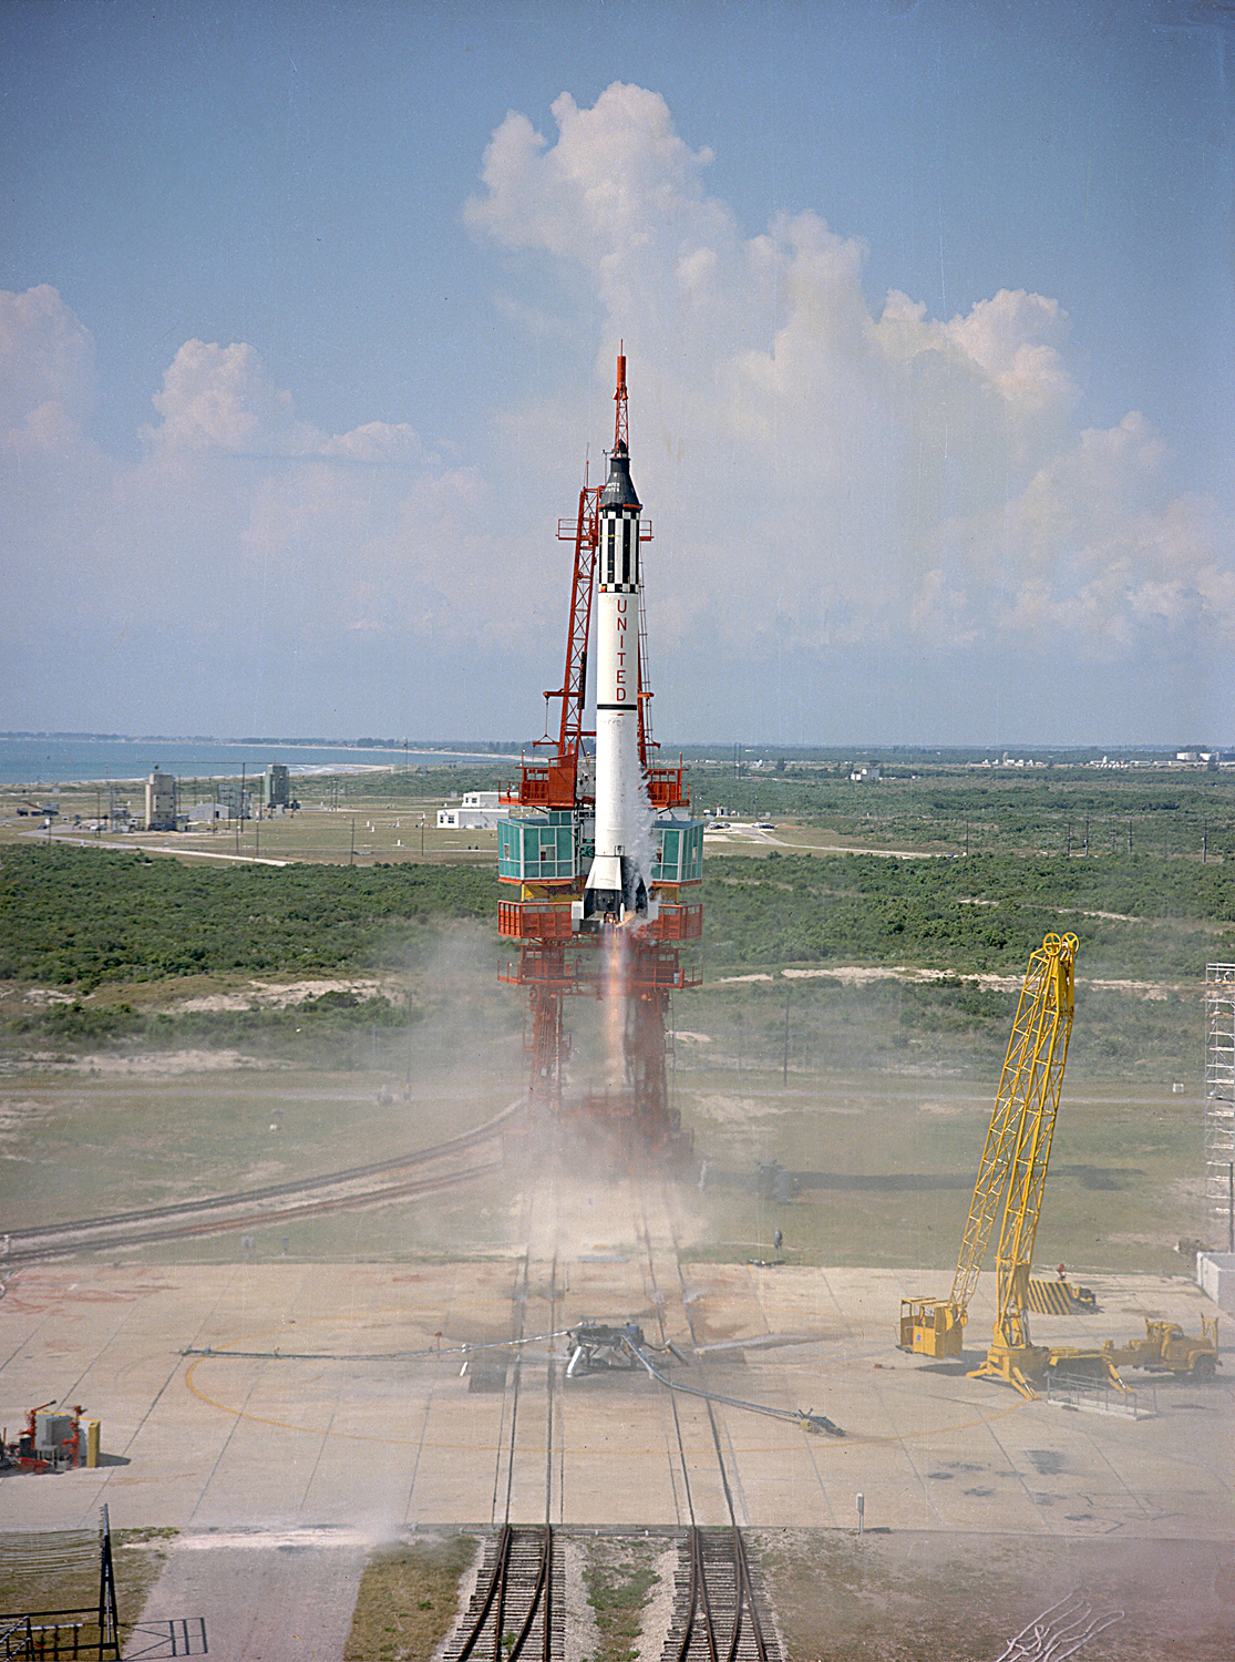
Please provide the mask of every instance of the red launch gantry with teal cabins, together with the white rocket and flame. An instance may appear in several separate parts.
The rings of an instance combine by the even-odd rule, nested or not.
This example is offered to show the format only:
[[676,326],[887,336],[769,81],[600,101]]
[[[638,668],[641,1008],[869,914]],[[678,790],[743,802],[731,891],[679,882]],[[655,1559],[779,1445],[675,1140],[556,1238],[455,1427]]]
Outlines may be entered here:
[[[640,548],[652,540],[630,479],[627,361],[617,361],[613,450],[603,485],[583,484],[578,514],[558,522],[573,542],[565,675],[545,693],[545,736],[502,788],[499,934],[519,942],[502,981],[525,987],[530,1117],[554,1142],[605,1145],[627,1167],[686,1153],[670,1107],[670,996],[700,981],[678,942],[703,932],[691,899],[703,879],[703,824],[690,814],[683,768],[652,738]],[[595,632],[595,726],[585,728]],[[630,625],[630,627],[628,627]],[[557,733],[550,705],[558,703]],[[567,1099],[570,1035],[563,1002],[618,1001],[620,1055],[603,1090]]]

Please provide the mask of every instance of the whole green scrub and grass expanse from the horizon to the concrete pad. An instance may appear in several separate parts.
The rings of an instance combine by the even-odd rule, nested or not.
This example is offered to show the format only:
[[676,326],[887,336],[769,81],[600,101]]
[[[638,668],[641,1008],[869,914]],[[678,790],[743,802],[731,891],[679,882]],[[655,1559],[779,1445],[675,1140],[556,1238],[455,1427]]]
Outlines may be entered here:
[[[703,768],[696,796],[721,799],[726,781]],[[326,779],[317,801],[346,791],[342,808],[111,839],[128,858],[80,828],[32,834],[17,796],[7,818],[0,801],[12,1227],[337,1170],[517,1097],[525,1002],[495,976],[494,834],[434,819],[447,788],[492,783]],[[1082,1273],[1178,1271],[1175,1242],[1198,1232],[1203,966],[1235,959],[1235,863],[1217,858],[1235,776],[939,766],[884,783],[871,796],[839,768],[746,776],[740,806],[780,798],[793,813],[710,843],[705,986],[673,1012],[675,1094],[708,1162],[691,1250],[761,1255],[780,1227],[801,1261],[946,1268],[1027,952],[1072,929],[1077,1017],[1042,1250]],[[60,801],[62,821],[85,818],[95,793]],[[1122,843],[1107,836],[1120,816]],[[969,859],[937,858],[954,843],[942,824],[969,826]],[[1188,853],[1197,828],[1205,859]],[[582,1089],[595,1009],[578,1001],[568,1019]],[[793,1173],[781,1202],[760,1198],[760,1162]],[[512,1187],[273,1228],[249,1250],[401,1258],[469,1228],[499,1250]]]

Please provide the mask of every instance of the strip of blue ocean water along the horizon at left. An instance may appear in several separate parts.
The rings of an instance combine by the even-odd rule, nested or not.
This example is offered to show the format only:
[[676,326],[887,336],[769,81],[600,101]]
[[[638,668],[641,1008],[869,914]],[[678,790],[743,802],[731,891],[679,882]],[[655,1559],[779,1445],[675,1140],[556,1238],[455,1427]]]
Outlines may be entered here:
[[359,750],[352,745],[241,745],[193,738],[0,736],[0,784],[53,786],[78,779],[145,779],[155,768],[178,779],[239,778],[281,761],[293,774],[510,761],[492,751]]

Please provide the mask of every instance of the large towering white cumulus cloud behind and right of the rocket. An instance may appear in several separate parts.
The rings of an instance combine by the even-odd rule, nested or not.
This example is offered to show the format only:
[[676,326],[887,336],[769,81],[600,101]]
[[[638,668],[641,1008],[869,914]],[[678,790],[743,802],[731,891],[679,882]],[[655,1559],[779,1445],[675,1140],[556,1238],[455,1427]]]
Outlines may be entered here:
[[1059,299],[1006,288],[947,321],[899,291],[876,306],[864,243],[816,213],[743,236],[660,95],[615,83],[554,118],[550,140],[507,116],[465,216],[602,307],[597,376],[625,337],[637,482],[675,525],[652,582],[680,642],[1064,635],[1109,661],[1187,630],[1232,640],[1230,527],[1172,495],[1142,416],[1077,429]]

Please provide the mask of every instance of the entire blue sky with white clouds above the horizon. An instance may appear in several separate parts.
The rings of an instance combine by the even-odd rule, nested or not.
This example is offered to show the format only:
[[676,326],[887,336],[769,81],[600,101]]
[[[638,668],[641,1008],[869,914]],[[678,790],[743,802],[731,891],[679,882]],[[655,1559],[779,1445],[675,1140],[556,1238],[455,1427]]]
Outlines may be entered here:
[[1217,3],[0,12],[0,726],[1235,743]]

